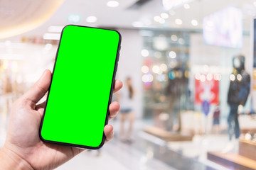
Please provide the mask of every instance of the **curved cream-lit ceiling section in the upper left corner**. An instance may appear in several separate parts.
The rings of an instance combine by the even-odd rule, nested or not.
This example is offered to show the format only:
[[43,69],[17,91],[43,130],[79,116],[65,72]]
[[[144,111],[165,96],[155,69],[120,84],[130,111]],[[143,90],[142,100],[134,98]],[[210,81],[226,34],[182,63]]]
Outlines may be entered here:
[[64,0],[1,0],[0,38],[37,28],[48,20]]

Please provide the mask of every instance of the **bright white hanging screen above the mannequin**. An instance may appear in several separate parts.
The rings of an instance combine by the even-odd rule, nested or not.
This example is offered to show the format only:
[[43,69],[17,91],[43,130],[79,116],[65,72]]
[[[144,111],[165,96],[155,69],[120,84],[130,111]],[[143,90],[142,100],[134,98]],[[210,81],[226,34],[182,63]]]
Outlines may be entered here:
[[242,47],[242,11],[228,7],[204,17],[203,39],[209,45]]

